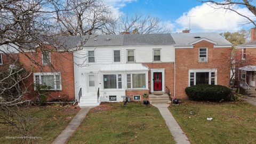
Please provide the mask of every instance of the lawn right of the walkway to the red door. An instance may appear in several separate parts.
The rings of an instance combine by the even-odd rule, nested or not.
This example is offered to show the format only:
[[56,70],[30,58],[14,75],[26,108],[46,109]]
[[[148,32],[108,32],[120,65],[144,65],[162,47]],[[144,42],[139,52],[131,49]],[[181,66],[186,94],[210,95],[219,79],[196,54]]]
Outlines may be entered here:
[[191,143],[256,143],[256,107],[247,102],[185,101],[169,109]]

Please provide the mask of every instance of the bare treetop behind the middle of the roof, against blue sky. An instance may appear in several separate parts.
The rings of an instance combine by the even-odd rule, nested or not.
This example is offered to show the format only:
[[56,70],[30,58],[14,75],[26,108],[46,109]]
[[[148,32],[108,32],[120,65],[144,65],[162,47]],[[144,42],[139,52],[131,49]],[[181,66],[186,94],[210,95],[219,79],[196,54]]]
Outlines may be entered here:
[[152,34],[152,33],[168,33],[161,24],[162,21],[151,15],[143,15],[134,13],[134,15],[124,14],[115,21],[115,25],[111,25],[108,29],[110,34],[120,34],[129,32],[131,34]]

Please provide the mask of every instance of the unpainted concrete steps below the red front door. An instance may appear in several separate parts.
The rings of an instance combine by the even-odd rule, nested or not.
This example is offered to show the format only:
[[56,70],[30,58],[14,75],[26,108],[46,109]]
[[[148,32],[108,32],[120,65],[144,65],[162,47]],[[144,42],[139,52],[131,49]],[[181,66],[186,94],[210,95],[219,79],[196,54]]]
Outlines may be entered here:
[[[155,95],[157,94],[157,95]],[[159,95],[162,94],[162,95]],[[162,92],[154,92],[152,94],[149,94],[149,102],[150,104],[167,104],[171,103],[169,99],[169,95]]]

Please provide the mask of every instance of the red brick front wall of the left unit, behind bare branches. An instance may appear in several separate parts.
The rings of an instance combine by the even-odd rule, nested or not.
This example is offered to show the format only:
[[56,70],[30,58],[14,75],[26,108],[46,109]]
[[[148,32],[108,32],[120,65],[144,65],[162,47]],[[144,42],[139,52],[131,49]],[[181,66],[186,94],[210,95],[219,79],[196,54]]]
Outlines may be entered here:
[[[49,46],[47,46],[49,47]],[[75,85],[74,85],[74,65],[73,65],[73,53],[71,52],[51,52],[51,64],[50,66],[42,66],[42,53],[38,49],[35,52],[27,52],[30,55],[29,58],[25,54],[19,53],[20,62],[27,70],[32,70],[33,73],[37,72],[52,72],[58,71],[61,73],[61,91],[50,91],[47,101],[53,101],[59,97],[68,97],[68,101],[73,101],[75,97]],[[34,62],[31,62],[34,61]],[[37,65],[36,65],[37,64]],[[34,92],[34,78],[31,74],[26,81],[28,85],[29,94],[27,98],[32,99],[35,97]]]

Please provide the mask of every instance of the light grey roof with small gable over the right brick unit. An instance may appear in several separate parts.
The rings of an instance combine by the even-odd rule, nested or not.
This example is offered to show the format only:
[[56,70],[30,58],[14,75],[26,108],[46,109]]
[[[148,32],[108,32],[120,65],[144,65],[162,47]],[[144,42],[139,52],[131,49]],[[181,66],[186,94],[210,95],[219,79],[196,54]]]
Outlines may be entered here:
[[193,44],[201,41],[208,41],[213,43],[215,46],[232,46],[227,39],[217,33],[180,33],[171,34],[171,36],[176,43],[176,47],[193,46]]

